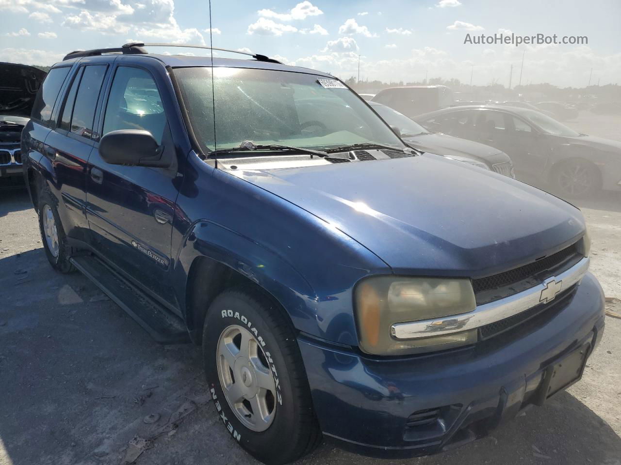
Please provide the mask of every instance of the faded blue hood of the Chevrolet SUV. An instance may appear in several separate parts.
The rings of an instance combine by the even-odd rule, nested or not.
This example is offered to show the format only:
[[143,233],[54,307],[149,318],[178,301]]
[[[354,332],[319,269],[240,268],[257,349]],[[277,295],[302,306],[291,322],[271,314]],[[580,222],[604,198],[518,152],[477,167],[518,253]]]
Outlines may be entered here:
[[441,157],[229,171],[324,219],[394,272],[481,277],[577,241],[580,211]]

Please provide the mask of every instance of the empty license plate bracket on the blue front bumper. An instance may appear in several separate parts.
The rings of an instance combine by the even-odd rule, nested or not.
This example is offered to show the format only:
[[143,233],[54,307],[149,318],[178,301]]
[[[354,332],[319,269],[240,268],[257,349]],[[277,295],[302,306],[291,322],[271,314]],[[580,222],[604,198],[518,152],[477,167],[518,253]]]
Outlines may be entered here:
[[543,405],[547,399],[557,392],[567,389],[582,378],[587,356],[591,352],[591,343],[587,342],[581,347],[569,352],[561,360],[556,361],[543,371],[542,383],[540,384],[533,404]]

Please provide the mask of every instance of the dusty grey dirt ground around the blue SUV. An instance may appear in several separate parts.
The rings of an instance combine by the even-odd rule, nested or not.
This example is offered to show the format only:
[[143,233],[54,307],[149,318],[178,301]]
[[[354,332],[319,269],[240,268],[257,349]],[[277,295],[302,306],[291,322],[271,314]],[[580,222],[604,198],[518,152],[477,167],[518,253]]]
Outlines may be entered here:
[[[621,298],[621,194],[579,206],[591,270]],[[138,464],[256,463],[219,424],[199,350],[158,345],[85,277],[53,272],[20,190],[0,192],[0,387],[0,465],[116,465],[142,449]],[[621,465],[621,319],[606,318],[581,382],[492,436],[398,461],[324,443],[300,463]]]

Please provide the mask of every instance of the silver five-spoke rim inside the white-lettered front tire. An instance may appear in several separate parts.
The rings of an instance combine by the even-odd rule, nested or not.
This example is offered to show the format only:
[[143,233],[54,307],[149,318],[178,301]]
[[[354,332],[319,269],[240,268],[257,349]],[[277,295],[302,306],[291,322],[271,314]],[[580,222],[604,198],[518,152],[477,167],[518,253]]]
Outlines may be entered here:
[[261,432],[276,414],[276,384],[258,340],[240,325],[226,327],[217,345],[220,386],[243,425]]

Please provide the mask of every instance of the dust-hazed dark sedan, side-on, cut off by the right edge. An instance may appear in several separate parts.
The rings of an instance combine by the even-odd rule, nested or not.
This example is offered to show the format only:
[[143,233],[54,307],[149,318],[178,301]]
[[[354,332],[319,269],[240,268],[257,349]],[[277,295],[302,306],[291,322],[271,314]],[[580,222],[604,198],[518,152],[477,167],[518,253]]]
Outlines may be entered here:
[[543,113],[476,106],[445,108],[415,120],[430,131],[504,151],[517,179],[564,197],[621,190],[621,142],[577,133]]

